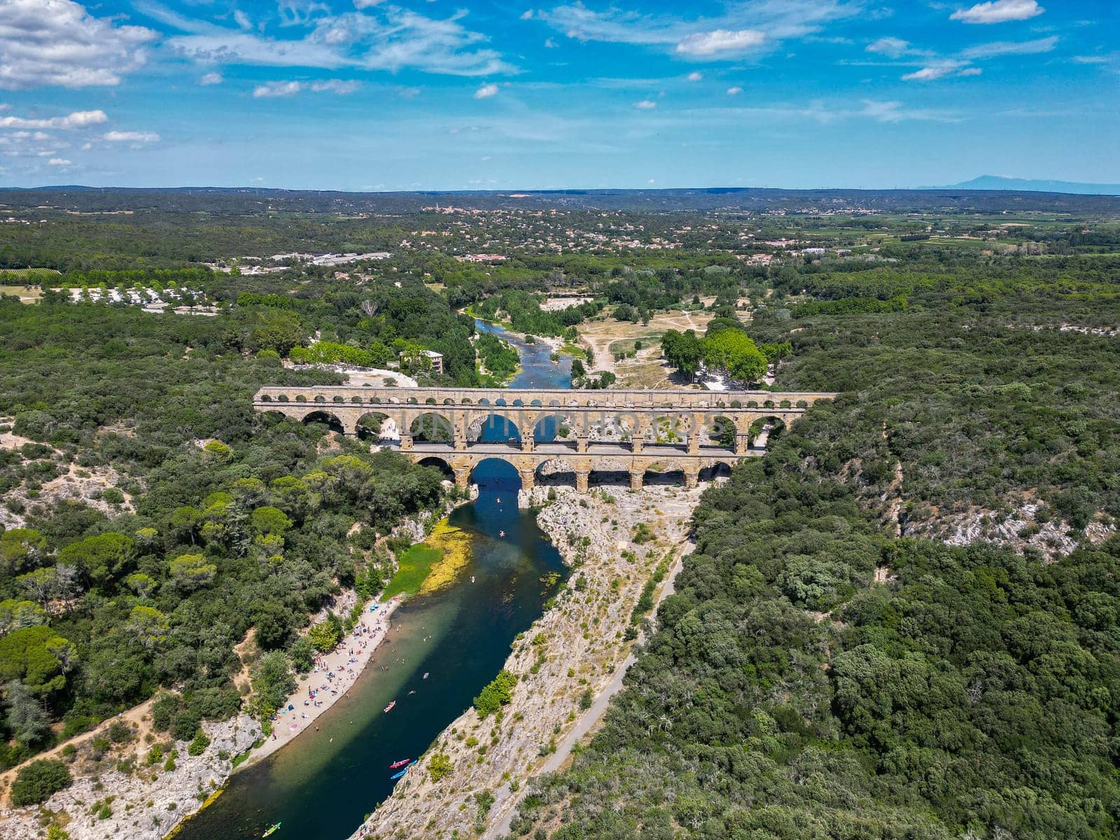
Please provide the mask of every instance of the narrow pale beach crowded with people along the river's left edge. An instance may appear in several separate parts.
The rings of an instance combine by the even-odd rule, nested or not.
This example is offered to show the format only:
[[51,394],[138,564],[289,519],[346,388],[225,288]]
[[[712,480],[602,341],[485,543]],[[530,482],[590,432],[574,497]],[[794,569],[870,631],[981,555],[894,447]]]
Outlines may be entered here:
[[[401,604],[398,596],[384,604],[365,607],[360,624],[329,653],[321,654],[315,668],[300,674],[299,688],[283,703],[272,720],[272,735],[253,750],[241,767],[249,767],[315,728],[316,719],[338,698],[345,697],[365,670],[370,656],[389,633],[390,618]],[[373,608],[375,607],[375,608]]]

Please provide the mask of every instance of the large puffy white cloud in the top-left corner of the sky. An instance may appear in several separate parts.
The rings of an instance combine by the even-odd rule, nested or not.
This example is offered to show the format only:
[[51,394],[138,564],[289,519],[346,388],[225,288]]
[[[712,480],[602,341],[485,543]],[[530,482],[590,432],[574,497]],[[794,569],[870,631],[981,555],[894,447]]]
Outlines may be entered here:
[[115,85],[147,59],[157,34],[114,26],[72,0],[0,2],[0,87]]

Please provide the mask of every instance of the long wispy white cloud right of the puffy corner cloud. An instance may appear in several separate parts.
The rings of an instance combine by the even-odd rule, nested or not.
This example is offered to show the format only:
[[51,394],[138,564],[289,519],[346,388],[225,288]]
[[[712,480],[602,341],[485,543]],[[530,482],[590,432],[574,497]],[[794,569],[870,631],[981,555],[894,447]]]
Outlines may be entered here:
[[358,67],[483,76],[515,68],[494,49],[486,36],[466,29],[465,11],[437,19],[396,6],[375,7],[308,22],[310,31],[296,39],[278,39],[194,21],[169,22],[186,35],[167,40],[180,56],[199,62],[274,67]]

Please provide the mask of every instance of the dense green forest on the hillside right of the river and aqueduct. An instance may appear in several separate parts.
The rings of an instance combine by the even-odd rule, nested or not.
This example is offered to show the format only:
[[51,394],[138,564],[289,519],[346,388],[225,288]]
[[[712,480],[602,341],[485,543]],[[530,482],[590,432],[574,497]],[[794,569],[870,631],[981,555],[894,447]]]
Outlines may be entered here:
[[[778,384],[843,393],[706,493],[627,689],[515,836],[1114,836],[1120,540],[1086,529],[1120,516],[1120,346],[1093,332],[1120,263],[900,262],[774,277],[748,329],[790,342]],[[954,514],[1027,521],[899,536]]]

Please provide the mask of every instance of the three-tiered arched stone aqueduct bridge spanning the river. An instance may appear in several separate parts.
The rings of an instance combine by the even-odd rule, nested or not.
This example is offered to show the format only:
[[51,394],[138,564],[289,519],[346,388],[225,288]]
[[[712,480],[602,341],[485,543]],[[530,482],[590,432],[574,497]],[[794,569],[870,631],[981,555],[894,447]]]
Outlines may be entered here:
[[[253,408],[298,420],[333,420],[347,436],[365,430],[360,426],[363,418],[391,420],[402,452],[418,463],[442,461],[461,487],[469,484],[478,463],[498,458],[517,469],[525,489],[533,486],[541,466],[557,463],[557,468],[566,465],[575,473],[576,486],[586,491],[592,470],[628,473],[631,486],[640,488],[651,467],[680,470],[685,485],[694,486],[701,473],[762,455],[768,429],[790,426],[814,402],[833,396],[771,391],[274,386],[262,388]],[[503,433],[505,440],[500,442],[479,441],[484,423],[503,424],[512,433]],[[560,427],[567,437],[551,439],[551,430]],[[605,436],[604,429],[612,435]],[[612,436],[617,439],[605,439]]]

